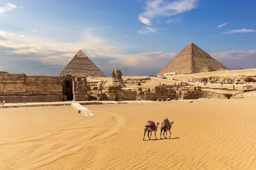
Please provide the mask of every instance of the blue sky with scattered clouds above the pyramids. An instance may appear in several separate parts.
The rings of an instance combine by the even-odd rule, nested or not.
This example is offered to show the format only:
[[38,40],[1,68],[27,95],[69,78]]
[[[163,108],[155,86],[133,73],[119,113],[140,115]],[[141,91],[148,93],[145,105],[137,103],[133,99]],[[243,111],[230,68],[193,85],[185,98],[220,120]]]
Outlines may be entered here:
[[256,68],[255,0],[1,0],[0,71],[57,76],[81,49],[111,77],[157,74],[189,43]]

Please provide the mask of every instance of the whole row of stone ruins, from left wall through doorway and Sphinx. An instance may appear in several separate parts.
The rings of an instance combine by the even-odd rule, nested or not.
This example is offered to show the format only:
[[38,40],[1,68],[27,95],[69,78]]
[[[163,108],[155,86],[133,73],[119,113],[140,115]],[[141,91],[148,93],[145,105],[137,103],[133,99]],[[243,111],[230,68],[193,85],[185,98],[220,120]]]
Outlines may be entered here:
[[198,99],[204,97],[200,87],[161,85],[154,88],[127,88],[125,83],[145,82],[145,79],[124,80],[122,72],[113,70],[112,79],[87,82],[86,77],[28,76],[0,72],[0,101],[61,102],[67,100],[157,100]]

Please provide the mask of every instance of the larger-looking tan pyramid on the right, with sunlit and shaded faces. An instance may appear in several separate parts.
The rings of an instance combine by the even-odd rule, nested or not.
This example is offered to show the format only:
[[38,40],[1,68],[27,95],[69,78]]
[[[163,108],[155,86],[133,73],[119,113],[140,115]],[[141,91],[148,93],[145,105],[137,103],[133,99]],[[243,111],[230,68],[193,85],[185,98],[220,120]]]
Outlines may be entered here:
[[190,43],[157,75],[163,75],[170,72],[177,72],[177,74],[194,74],[221,70],[228,69],[204,52],[201,48]]

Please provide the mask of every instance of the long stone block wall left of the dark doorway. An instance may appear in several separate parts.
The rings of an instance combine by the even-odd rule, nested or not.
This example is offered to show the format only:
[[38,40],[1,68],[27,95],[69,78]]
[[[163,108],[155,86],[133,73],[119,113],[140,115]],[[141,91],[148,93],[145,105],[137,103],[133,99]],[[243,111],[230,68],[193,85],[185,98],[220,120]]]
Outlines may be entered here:
[[1,102],[59,102],[62,95],[58,77],[0,72]]

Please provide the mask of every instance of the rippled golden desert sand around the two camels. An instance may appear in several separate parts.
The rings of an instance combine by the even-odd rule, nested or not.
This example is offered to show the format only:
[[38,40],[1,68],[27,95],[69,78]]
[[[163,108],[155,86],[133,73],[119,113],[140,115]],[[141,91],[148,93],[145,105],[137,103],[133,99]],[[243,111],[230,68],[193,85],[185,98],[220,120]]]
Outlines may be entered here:
[[[71,106],[0,109],[0,169],[253,170],[255,103],[245,97],[87,105],[93,118]],[[165,116],[175,122],[171,138],[143,141],[147,120]]]

